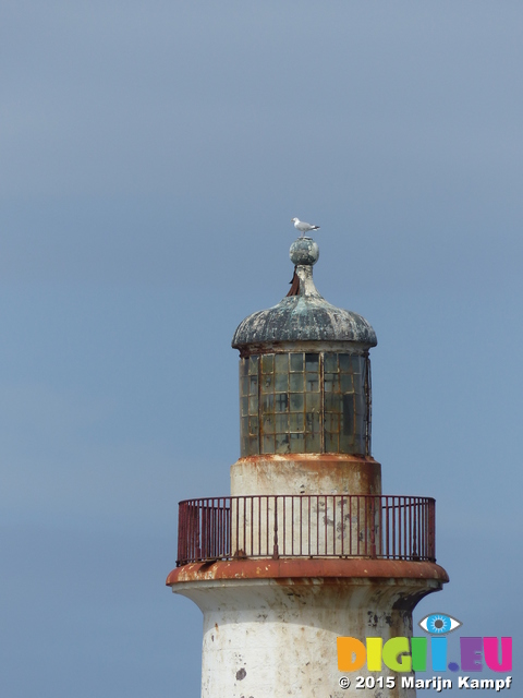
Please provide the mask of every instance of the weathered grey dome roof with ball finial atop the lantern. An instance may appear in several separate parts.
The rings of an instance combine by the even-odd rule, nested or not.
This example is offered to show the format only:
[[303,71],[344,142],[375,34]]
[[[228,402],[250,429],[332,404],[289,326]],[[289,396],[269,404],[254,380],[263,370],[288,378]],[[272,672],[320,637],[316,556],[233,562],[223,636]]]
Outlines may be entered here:
[[290,251],[295,264],[290,294],[277,305],[246,317],[236,328],[232,346],[278,341],[353,341],[365,348],[377,345],[370,324],[349,310],[328,303],[313,281],[319,249],[311,238],[299,238]]

